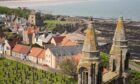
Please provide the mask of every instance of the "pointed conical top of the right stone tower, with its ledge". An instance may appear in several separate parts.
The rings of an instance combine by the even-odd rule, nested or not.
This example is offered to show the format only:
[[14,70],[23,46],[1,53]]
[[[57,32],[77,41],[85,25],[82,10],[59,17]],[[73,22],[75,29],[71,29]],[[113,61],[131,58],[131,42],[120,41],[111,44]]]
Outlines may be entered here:
[[121,47],[127,47],[123,17],[118,18],[110,54],[120,53]]

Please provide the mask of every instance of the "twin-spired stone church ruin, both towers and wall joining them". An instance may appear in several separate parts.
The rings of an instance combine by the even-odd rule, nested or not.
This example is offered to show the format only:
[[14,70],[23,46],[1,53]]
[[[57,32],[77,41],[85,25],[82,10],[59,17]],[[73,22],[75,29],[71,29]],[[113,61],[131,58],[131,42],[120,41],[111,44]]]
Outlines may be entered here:
[[82,57],[78,64],[78,84],[128,84],[130,53],[123,17],[117,21],[109,54],[109,68],[105,74],[102,73],[100,51],[93,26],[93,21],[89,21]]

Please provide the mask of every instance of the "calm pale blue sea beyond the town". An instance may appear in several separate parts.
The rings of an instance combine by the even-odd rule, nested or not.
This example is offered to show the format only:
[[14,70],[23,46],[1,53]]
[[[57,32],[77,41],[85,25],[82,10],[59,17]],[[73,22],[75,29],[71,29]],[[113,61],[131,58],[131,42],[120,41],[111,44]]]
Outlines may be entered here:
[[[78,2],[79,1],[79,2]],[[140,20],[140,0],[78,0],[76,3],[30,5],[28,8],[44,13],[69,16],[93,16]]]

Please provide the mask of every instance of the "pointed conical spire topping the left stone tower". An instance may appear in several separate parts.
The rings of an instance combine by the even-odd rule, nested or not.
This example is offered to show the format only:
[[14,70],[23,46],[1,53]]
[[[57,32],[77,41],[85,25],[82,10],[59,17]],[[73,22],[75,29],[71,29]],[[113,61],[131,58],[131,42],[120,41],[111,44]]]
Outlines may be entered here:
[[95,35],[95,29],[93,27],[93,20],[91,19],[86,30],[86,37],[83,45],[83,52],[96,52],[98,50],[98,43]]

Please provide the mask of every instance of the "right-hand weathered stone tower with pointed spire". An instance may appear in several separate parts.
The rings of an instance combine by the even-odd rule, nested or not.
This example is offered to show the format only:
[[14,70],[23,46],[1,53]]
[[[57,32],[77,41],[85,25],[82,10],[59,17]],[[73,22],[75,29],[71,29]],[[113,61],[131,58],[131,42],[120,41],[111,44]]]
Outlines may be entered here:
[[126,79],[128,77],[128,60],[129,60],[128,41],[125,36],[125,28],[123,25],[123,17],[120,17],[117,21],[117,27],[115,30],[113,45],[110,51],[109,69],[112,72],[116,72],[120,79],[123,79],[119,84],[127,84]]

